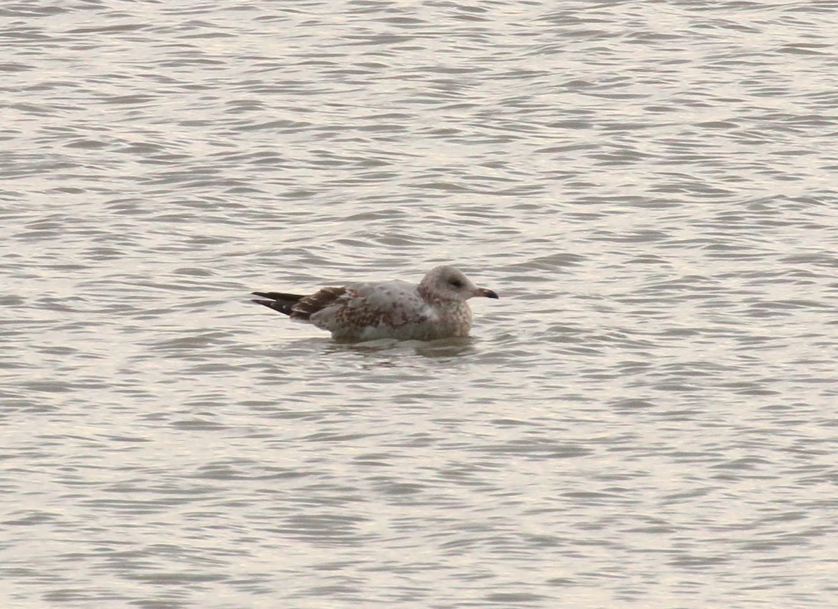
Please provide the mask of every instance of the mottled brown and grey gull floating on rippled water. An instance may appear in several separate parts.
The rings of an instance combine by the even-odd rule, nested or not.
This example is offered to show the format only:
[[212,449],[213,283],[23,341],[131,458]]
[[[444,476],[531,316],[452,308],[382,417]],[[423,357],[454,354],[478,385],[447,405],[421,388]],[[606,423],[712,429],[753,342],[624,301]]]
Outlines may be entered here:
[[498,298],[478,288],[462,271],[438,266],[414,285],[394,279],[323,288],[313,294],[254,292],[256,304],[315,325],[341,342],[377,340],[437,340],[468,336],[473,296]]

